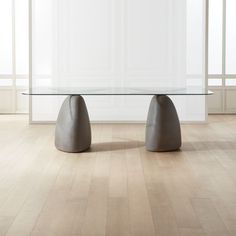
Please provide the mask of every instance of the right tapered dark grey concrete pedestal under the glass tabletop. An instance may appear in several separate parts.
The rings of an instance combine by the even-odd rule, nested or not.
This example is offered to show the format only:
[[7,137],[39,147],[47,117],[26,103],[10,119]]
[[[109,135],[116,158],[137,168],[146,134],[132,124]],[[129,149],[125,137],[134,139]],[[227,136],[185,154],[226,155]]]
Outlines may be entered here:
[[146,149],[165,152],[178,150],[180,147],[181,130],[175,106],[168,96],[155,95],[148,112]]

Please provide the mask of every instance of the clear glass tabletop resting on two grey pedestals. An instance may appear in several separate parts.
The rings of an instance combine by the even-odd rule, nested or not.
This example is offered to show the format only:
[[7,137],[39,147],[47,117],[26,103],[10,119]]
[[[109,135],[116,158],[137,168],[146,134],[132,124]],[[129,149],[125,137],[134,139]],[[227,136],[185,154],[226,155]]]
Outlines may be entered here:
[[83,88],[83,87],[34,87],[24,95],[211,95],[213,94],[202,87],[143,87],[143,88]]

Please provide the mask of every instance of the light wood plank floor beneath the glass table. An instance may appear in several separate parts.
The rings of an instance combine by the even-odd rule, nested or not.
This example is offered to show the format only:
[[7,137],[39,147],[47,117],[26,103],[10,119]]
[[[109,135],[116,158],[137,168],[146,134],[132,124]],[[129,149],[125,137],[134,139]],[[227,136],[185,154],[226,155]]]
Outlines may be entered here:
[[0,235],[236,235],[236,116],[183,125],[180,152],[144,148],[144,125],[92,126],[90,152],[53,125],[0,116]]

